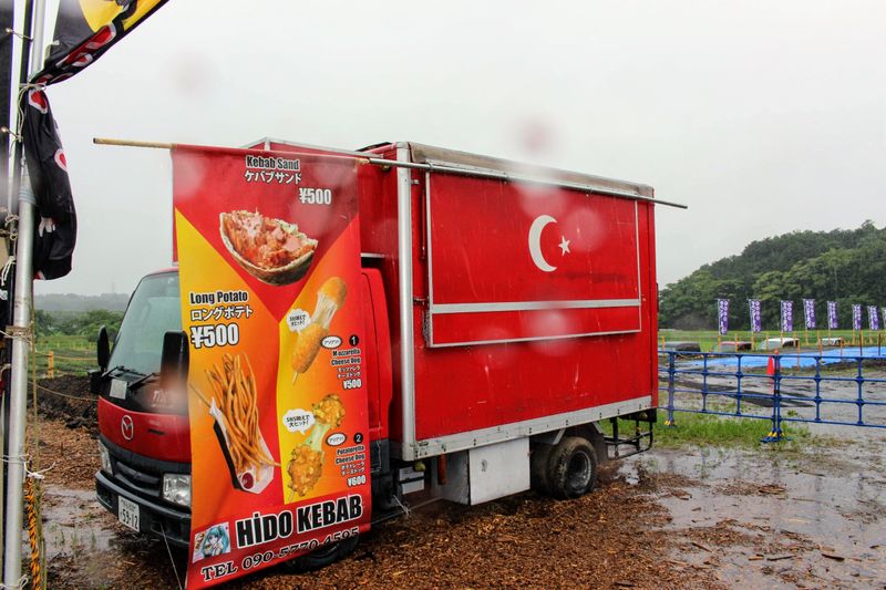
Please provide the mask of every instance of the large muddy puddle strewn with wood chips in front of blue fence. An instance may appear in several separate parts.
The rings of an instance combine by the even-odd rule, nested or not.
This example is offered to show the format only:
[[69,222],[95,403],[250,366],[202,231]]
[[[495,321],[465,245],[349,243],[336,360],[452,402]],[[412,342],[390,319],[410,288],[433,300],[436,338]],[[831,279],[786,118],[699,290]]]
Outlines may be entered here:
[[649,493],[682,537],[677,563],[730,586],[886,582],[883,444],[808,454],[655,449],[617,476]]

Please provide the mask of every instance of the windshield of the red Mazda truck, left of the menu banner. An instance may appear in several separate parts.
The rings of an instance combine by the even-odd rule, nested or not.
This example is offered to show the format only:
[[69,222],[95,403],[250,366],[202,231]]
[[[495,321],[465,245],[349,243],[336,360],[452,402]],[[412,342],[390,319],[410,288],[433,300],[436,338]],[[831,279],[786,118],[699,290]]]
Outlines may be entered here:
[[109,365],[123,366],[144,375],[158,372],[163,334],[181,330],[178,273],[145,277],[126,308]]

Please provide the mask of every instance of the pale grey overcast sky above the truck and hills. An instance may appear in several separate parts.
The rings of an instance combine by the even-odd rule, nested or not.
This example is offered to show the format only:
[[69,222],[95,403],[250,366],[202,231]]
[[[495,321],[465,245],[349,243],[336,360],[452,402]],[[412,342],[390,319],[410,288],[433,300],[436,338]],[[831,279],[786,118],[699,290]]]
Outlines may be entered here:
[[[56,2],[49,1],[54,14]],[[886,2],[171,0],[49,90],[80,221],[37,292],[171,260],[163,151],[382,141],[652,185],[659,282],[793,229],[886,218]]]

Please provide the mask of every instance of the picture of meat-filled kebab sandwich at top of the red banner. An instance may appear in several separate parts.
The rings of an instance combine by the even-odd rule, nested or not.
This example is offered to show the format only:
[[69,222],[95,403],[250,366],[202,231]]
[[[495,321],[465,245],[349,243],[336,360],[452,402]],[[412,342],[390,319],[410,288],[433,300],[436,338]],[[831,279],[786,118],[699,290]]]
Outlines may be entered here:
[[225,247],[258,280],[289,284],[308,272],[317,240],[299,231],[298,225],[258,211],[238,210],[218,217]]

